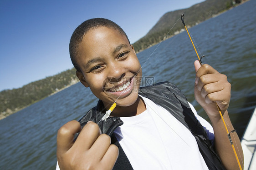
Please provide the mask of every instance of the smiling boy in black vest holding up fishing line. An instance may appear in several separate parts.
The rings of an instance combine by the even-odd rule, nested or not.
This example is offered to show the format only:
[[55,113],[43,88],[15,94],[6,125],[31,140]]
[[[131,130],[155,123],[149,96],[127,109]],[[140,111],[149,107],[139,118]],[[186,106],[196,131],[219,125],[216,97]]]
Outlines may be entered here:
[[[72,120],[58,131],[61,170],[238,169],[215,105],[233,130],[227,112],[231,85],[225,75],[195,61],[195,99],[211,120],[213,136],[211,126],[175,85],[139,89],[142,70],[135,50],[112,21],[97,18],[79,25],[70,40],[70,55],[77,77],[100,100],[79,122]],[[114,102],[111,117],[100,121]],[[231,136],[241,162],[240,140]]]

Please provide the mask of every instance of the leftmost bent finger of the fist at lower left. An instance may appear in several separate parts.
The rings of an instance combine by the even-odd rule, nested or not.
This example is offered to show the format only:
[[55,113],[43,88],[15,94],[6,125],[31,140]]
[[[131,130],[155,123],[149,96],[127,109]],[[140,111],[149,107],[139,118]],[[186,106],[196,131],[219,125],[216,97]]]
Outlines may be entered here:
[[63,125],[57,134],[57,154],[65,153],[73,145],[74,135],[81,130],[80,123],[72,120]]

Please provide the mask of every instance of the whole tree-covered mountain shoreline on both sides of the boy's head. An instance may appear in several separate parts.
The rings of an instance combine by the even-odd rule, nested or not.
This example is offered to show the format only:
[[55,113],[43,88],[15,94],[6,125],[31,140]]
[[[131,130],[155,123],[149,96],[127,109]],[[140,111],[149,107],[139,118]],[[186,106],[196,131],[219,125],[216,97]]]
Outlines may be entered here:
[[[175,10],[164,14],[147,35],[133,44],[136,52],[144,50],[162,40],[165,40],[184,29],[180,15],[184,13],[186,25],[196,25],[214,15],[230,8],[234,0],[206,0],[187,9]],[[236,0],[238,3],[239,0]],[[169,32],[169,30],[173,29]],[[167,35],[168,33],[168,35]],[[18,89],[3,90],[0,92],[0,119],[23,109],[63,88],[78,82],[75,69],[63,71],[57,75],[46,77]]]

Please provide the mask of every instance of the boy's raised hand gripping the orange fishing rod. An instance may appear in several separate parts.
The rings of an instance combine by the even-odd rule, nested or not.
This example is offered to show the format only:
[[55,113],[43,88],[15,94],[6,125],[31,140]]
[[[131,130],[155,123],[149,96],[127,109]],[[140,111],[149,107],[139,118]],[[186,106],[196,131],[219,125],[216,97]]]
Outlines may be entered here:
[[227,76],[220,74],[210,65],[200,65],[198,60],[195,61],[195,72],[195,100],[209,117],[219,115],[215,102],[224,113],[229,106],[231,90]]

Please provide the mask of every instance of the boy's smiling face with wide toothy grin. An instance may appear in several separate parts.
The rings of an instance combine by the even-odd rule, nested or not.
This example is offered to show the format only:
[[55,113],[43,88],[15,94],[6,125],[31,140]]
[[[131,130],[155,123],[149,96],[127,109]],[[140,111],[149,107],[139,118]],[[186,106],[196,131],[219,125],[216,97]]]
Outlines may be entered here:
[[108,27],[89,30],[78,46],[77,77],[103,101],[119,106],[132,105],[138,99],[142,70],[133,46],[125,35]]

